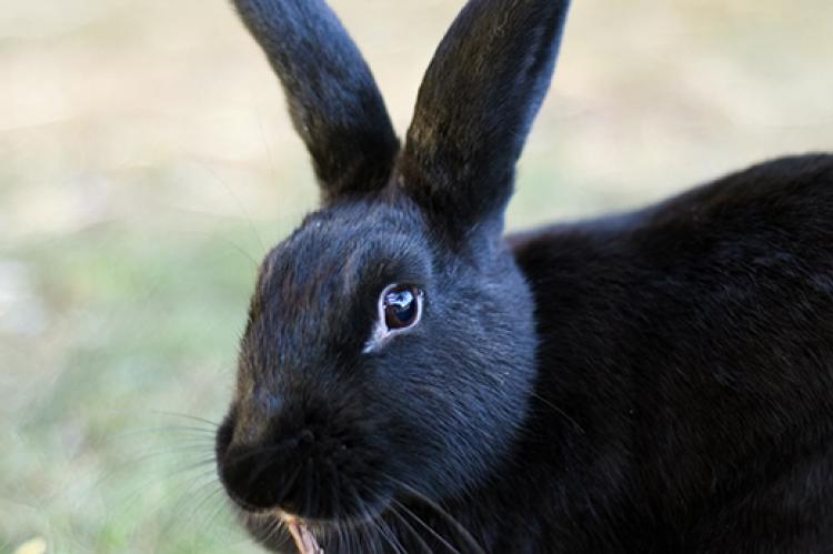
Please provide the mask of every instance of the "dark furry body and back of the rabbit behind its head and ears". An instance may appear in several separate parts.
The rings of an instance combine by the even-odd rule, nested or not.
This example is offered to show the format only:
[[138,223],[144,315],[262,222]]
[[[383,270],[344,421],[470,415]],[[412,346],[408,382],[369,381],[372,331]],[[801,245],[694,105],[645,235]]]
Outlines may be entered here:
[[544,494],[632,552],[833,544],[832,215],[833,155],[805,155],[509,236],[540,341],[528,434],[553,444],[520,451],[571,483]]

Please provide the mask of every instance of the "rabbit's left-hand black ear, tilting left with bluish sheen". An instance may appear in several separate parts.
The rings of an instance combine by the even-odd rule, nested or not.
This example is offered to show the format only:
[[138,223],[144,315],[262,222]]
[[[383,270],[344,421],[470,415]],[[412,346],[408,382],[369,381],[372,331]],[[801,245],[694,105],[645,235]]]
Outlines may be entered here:
[[287,94],[323,200],[384,187],[399,140],[359,49],[323,0],[234,0]]

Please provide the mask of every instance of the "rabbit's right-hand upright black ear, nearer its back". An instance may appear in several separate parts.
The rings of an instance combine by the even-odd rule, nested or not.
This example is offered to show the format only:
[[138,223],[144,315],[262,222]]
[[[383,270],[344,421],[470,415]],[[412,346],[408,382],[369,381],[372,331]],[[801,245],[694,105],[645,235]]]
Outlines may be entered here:
[[465,233],[502,215],[569,3],[470,0],[440,43],[397,179],[443,226]]

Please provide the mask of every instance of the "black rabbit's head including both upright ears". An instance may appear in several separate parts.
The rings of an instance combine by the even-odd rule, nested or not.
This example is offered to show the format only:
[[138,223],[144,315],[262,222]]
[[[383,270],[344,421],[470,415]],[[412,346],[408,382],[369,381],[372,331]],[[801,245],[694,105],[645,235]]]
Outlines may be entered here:
[[322,207],[260,269],[221,481],[260,536],[274,517],[345,522],[408,491],[462,494],[511,449],[535,379],[534,308],[501,232],[566,2],[470,1],[401,149],[322,0],[235,6]]

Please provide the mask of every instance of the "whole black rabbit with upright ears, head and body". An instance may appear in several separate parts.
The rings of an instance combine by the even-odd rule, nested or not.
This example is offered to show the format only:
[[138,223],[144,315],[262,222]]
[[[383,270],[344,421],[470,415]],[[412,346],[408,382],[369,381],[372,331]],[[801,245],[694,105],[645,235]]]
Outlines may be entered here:
[[833,155],[502,238],[566,0],[471,0],[401,149],[323,0],[235,6],[323,193],[263,262],[217,436],[253,536],[833,552]]

